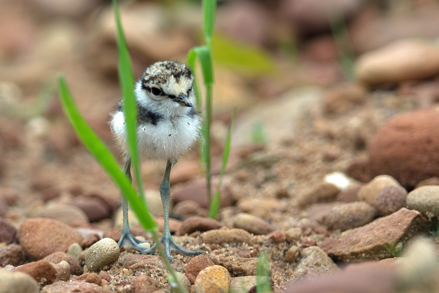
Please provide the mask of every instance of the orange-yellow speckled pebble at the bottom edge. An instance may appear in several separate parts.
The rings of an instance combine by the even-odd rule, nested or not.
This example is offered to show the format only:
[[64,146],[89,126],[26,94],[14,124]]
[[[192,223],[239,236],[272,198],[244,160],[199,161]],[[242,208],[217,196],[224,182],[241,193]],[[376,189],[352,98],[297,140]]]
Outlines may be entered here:
[[198,273],[194,283],[194,293],[227,293],[231,280],[226,268],[212,265]]

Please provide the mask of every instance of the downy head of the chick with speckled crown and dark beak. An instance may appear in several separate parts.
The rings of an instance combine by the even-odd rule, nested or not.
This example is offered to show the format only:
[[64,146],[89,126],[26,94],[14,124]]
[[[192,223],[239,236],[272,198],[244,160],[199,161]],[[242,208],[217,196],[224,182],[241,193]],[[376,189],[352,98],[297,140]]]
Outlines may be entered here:
[[161,116],[181,116],[195,104],[194,75],[185,64],[160,61],[145,70],[136,83],[136,99],[144,108]]

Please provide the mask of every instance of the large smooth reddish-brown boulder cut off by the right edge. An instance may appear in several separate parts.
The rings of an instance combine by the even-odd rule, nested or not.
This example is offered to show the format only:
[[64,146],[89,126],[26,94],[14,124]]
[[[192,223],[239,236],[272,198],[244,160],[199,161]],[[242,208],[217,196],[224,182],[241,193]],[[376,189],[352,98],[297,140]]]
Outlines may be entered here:
[[411,189],[439,176],[439,112],[420,110],[393,117],[369,144],[372,176],[387,174]]

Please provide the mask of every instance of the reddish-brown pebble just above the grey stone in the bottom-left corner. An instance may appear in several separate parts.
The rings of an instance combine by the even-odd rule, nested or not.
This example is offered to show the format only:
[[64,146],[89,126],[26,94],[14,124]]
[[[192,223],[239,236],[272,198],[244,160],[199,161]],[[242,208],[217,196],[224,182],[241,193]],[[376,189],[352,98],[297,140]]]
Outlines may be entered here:
[[31,275],[36,282],[44,285],[51,284],[56,281],[57,271],[46,260],[33,261],[28,264],[22,264],[12,269],[12,271],[20,271]]

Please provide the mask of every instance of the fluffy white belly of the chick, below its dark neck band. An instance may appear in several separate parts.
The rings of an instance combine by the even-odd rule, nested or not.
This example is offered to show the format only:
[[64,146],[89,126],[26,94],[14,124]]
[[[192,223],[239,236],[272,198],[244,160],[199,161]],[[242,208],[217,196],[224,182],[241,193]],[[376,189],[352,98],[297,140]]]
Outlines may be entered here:
[[[199,117],[179,116],[160,120],[156,125],[140,124],[137,131],[141,159],[170,160],[176,163],[195,145],[199,137]],[[129,153],[126,145],[125,119],[123,112],[117,112],[112,119],[111,129],[122,151]]]

